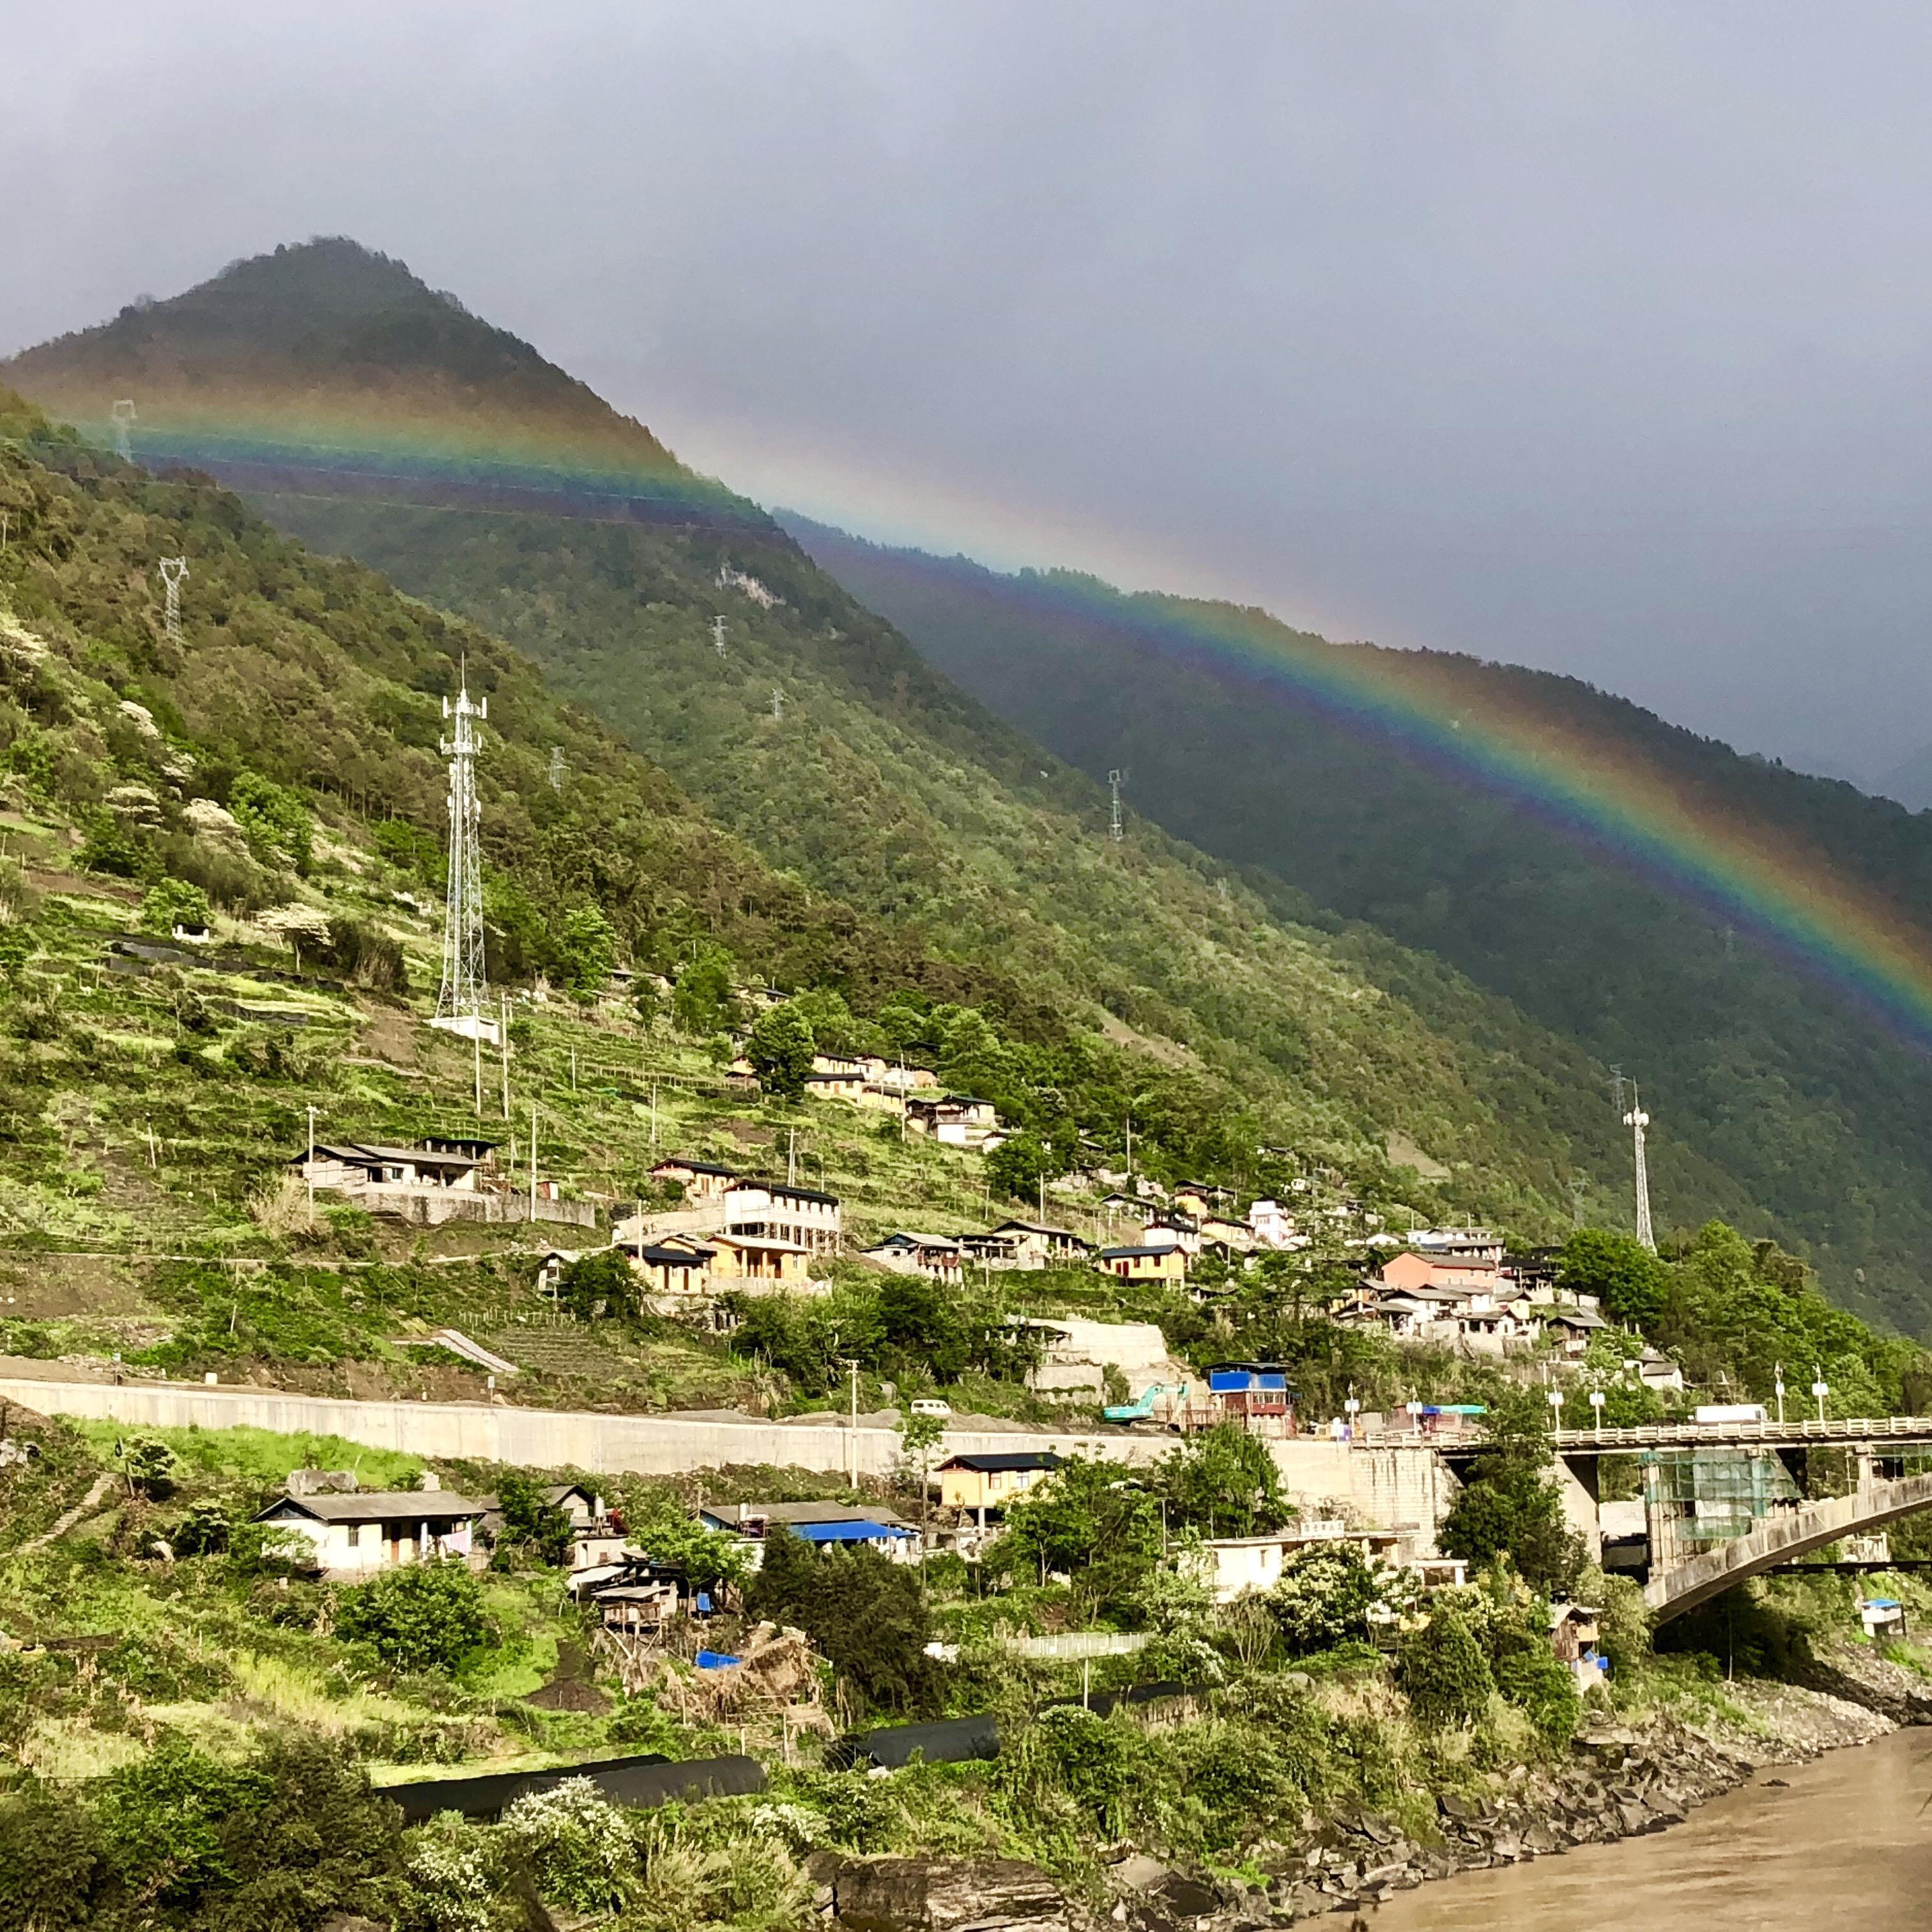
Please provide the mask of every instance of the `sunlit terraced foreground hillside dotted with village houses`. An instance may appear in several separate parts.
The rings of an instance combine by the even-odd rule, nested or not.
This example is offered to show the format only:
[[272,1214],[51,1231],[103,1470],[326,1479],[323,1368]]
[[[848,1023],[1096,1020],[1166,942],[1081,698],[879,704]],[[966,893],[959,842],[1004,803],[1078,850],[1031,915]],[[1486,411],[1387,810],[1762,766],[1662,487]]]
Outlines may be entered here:
[[[1063,1922],[1283,1922],[1671,1812],[1577,1735],[1634,1764],[1803,1704],[1654,1654],[1662,1463],[1588,1493],[1549,1453],[1764,1420],[1787,1366],[1822,1428],[1932,1406],[1797,1258],[1291,1136],[761,871],[224,493],[44,423],[0,458],[0,1901],[255,1911],[259,1820],[327,1793],[305,1926],[495,1932],[518,1872],[651,1932],[860,1924],[866,1861],[935,1845]],[[151,520],[218,641],[170,639]],[[452,1003],[442,728],[483,676]],[[1886,1586],[1754,1602],[1905,1698],[1889,1611],[1847,1648],[1928,1602]]]

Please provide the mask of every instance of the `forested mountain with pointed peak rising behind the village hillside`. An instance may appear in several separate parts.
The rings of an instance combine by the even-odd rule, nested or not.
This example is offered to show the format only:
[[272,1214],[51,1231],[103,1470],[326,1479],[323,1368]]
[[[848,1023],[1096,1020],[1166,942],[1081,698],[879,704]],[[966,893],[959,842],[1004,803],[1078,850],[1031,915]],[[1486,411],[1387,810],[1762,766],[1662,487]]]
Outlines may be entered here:
[[[131,398],[135,456],[205,462],[284,527],[508,638],[767,864],[910,923],[1020,1005],[1142,1043],[1169,1076],[1128,1097],[1177,1159],[1269,1144],[1368,1171],[1399,1132],[1453,1169],[1445,1202],[1549,1229],[1584,1177],[1596,1211],[1623,1211],[1590,1055],[1265,869],[1231,879],[1148,819],[1109,842],[1101,790],[769,518],[639,425],[599,431],[582,384],[400,265],[280,251],[12,373],[97,425]],[[1660,1136],[1658,1177],[1671,1215],[1772,1225],[1683,1140]]]

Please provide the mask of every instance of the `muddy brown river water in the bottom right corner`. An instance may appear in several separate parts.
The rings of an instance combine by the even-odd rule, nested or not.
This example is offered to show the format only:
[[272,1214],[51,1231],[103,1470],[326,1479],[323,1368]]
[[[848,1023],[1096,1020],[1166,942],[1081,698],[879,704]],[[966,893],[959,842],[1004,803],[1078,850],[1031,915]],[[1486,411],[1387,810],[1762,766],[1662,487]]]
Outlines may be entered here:
[[[1774,1779],[1785,1779],[1779,1787]],[[1907,1932],[1932,1924],[1932,1729],[1760,1772],[1681,1826],[1463,1872],[1374,1932]]]

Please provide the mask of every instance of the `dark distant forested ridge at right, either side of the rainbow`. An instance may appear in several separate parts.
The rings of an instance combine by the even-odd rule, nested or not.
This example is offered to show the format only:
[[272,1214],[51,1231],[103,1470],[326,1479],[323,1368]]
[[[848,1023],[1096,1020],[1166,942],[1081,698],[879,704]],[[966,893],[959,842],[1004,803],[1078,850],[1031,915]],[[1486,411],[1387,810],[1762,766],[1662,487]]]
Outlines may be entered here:
[[[1689,1142],[1731,1175],[1835,1293],[1918,1329],[1932,1320],[1926,1061],[1861,1007],[1393,734],[1163,651],[1161,620],[1200,605],[1078,580],[1076,622],[1034,595],[1055,580],[794,527],[935,670],[1084,771],[1126,767],[1136,811],[1443,958],[1621,1065],[1642,1082],[1656,1144]],[[1240,622],[1293,636],[1262,612]],[[1932,821],[1741,757],[1575,678],[1434,653],[1414,663],[1472,717],[1534,709],[1625,744],[1712,813],[1820,852],[1932,925]],[[1677,1175],[1656,1192],[1660,1215],[1696,1217]]]

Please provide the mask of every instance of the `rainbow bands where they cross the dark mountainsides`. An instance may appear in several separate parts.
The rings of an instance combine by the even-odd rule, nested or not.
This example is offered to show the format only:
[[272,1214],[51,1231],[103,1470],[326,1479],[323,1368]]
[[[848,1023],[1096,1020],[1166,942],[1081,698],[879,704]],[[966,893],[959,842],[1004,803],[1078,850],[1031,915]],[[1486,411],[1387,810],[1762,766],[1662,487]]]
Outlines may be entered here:
[[[429,402],[429,398],[419,398]],[[668,524],[773,539],[753,502],[668,458],[622,417],[558,429],[495,412],[452,429],[402,404],[371,421],[371,398],[305,419],[286,406],[238,410],[203,396],[137,427],[151,468],[193,466],[247,493],[292,491],[431,502],[611,524]],[[601,408],[601,406],[599,406]],[[108,425],[83,425],[108,442]],[[823,508],[823,506],[821,506]],[[840,522],[825,510],[827,522]],[[866,520],[869,522],[869,520]],[[960,587],[983,582],[962,572]],[[1605,744],[1528,703],[1466,682],[1464,659],[1335,645],[1262,611],[1126,595],[1072,576],[1001,580],[1063,628],[1128,630],[1171,661],[1345,728],[1393,740],[1430,767],[1532,810],[1569,837],[1735,922],[1915,1045],[1932,1049],[1932,933],[1905,908],[1847,879],[1795,835],[1727,813],[1681,773],[1629,742]]]

